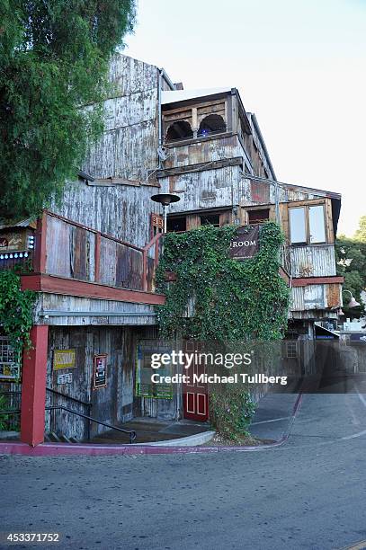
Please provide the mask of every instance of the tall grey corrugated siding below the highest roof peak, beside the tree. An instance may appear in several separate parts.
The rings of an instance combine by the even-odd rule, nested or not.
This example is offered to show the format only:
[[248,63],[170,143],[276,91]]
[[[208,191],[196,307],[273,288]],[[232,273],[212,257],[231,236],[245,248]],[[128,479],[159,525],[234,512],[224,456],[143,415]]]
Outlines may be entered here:
[[157,68],[117,55],[110,76],[115,97],[104,102],[103,138],[91,147],[83,170],[97,178],[145,181],[157,166]]

